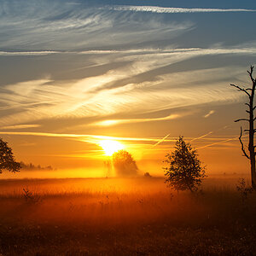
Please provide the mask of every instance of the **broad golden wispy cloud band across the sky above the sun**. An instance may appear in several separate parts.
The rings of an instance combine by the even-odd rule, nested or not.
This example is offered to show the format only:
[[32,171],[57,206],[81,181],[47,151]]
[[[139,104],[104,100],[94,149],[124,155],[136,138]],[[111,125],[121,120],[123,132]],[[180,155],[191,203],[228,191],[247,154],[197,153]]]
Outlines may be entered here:
[[[124,56],[125,58],[125,56]],[[181,55],[127,56],[124,66],[96,76],[72,81],[38,79],[7,84],[0,90],[3,126],[33,122],[40,119],[94,118],[108,115],[130,116],[131,122],[148,122],[177,118],[132,119],[131,114],[150,113],[204,103],[236,102],[241,98],[235,90],[220,83],[230,78],[229,67],[155,75],[137,80],[137,76],[191,58]],[[232,67],[233,76],[241,71]],[[232,77],[233,77],[232,76]],[[211,81],[209,81],[211,77]],[[189,81],[189,86],[188,86]],[[207,86],[206,86],[207,84]],[[200,93],[198,93],[200,91]],[[4,111],[8,111],[4,113]],[[183,114],[179,118],[183,117]],[[93,121],[90,121],[92,123]],[[112,119],[108,124],[127,123]],[[88,123],[87,123],[88,124]],[[101,124],[101,123],[99,123]],[[98,124],[98,125],[99,125]]]

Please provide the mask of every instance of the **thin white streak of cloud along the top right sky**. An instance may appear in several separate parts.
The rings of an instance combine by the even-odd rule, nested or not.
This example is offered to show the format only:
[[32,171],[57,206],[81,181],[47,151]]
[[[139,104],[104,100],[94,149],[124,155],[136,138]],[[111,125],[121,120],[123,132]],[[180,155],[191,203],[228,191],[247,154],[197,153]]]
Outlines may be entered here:
[[205,9],[205,8],[172,8],[159,6],[115,5],[108,9],[116,11],[150,12],[157,14],[187,14],[187,13],[223,13],[223,12],[255,12],[256,9]]

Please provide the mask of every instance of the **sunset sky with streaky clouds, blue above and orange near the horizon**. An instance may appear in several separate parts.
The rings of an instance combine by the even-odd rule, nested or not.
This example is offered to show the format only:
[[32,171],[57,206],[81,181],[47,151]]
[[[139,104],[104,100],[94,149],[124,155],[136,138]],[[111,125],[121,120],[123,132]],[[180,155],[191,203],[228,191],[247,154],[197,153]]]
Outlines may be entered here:
[[162,175],[179,136],[207,172],[246,173],[247,98],[230,84],[250,86],[255,15],[255,1],[0,0],[0,136],[73,176],[101,176],[106,139]]

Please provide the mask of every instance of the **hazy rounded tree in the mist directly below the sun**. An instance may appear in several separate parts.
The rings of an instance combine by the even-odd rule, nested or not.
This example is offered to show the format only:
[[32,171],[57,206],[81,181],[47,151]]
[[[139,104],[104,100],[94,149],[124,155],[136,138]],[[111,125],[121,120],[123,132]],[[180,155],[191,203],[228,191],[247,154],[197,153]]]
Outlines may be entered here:
[[127,177],[137,175],[137,164],[131,154],[125,150],[119,150],[113,154],[113,167],[117,176]]

